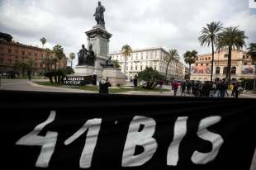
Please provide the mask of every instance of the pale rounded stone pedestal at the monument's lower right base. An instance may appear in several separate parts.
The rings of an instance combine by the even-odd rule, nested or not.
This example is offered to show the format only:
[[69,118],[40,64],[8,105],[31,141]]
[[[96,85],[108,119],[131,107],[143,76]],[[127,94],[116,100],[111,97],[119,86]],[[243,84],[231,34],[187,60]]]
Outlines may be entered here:
[[104,68],[102,71],[102,78],[108,78],[112,87],[126,84],[126,78],[119,68]]

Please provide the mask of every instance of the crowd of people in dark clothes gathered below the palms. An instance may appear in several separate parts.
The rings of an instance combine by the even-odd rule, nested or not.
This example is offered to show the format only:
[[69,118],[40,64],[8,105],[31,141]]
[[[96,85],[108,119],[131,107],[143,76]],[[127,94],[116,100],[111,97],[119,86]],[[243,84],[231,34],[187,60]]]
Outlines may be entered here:
[[[229,83],[223,80],[218,80],[216,82],[210,81],[183,81],[177,82],[173,81],[172,89],[174,96],[177,96],[178,90],[181,92],[181,96],[185,96],[187,94],[193,94],[196,97],[238,97],[240,92],[243,92],[244,88],[242,84],[239,82]],[[228,89],[231,90],[231,94],[229,94]]]

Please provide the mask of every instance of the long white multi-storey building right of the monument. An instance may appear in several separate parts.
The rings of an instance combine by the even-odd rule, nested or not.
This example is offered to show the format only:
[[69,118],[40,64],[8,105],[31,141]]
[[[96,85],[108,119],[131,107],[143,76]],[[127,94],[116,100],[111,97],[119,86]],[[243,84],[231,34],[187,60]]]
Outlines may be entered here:
[[[122,73],[125,73],[126,68],[126,78],[135,78],[135,75],[138,75],[138,73],[145,70],[147,67],[152,67],[163,75],[166,73],[167,64],[164,59],[168,56],[168,52],[163,48],[133,50],[130,56],[127,56],[126,62],[121,52],[111,53],[109,56],[111,56],[111,59],[119,62]],[[178,60],[171,62],[168,66],[168,79],[183,79],[185,76],[185,68],[186,66]]]

